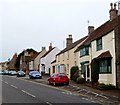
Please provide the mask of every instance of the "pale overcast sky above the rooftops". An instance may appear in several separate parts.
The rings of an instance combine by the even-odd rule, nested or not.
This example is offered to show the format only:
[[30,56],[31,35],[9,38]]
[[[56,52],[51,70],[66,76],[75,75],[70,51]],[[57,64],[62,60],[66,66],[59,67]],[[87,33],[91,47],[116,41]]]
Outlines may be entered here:
[[110,3],[118,0],[0,0],[0,62],[50,43],[60,50],[109,20]]

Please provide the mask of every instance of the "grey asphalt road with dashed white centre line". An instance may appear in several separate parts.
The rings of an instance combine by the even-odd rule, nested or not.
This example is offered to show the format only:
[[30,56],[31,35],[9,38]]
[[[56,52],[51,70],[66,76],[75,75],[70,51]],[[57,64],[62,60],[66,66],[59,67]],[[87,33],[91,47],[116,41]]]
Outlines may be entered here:
[[96,104],[84,96],[77,96],[53,86],[44,85],[16,78],[14,76],[2,76],[2,103],[74,103],[84,105]]

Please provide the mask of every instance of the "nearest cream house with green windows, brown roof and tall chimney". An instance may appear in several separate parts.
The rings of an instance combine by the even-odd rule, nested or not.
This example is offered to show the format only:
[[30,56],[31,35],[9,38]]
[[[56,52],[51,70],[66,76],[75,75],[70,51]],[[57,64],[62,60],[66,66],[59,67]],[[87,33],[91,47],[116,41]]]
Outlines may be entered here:
[[79,58],[80,73],[86,81],[94,80],[96,75],[98,79],[96,82],[118,86],[120,69],[116,62],[120,53],[117,52],[119,56],[117,57],[116,49],[118,50],[120,40],[118,39],[120,16],[115,5],[114,8],[112,6],[113,4],[111,4],[110,20],[90,33],[75,53]]

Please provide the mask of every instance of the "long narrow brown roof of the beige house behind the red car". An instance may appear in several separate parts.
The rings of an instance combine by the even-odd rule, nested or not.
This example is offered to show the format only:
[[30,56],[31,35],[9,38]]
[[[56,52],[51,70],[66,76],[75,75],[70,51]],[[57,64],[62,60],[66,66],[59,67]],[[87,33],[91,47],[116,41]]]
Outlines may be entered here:
[[76,45],[78,45],[79,43],[81,43],[82,41],[84,41],[87,37],[88,37],[88,36],[85,36],[85,37],[83,37],[83,38],[75,41],[74,43],[70,44],[68,47],[66,47],[65,49],[63,49],[63,50],[62,50],[60,53],[58,53],[57,55],[60,55],[60,54],[62,54],[62,53],[64,53],[64,52],[66,52],[66,51],[74,48]]

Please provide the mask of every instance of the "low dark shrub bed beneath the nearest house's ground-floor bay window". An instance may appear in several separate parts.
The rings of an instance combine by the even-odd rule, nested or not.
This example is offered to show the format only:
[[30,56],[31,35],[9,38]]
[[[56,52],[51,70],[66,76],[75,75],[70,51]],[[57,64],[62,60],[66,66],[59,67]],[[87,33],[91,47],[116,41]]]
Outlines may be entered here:
[[115,86],[112,84],[100,83],[97,85],[97,89],[99,89],[99,90],[111,90],[111,89],[115,89]]

